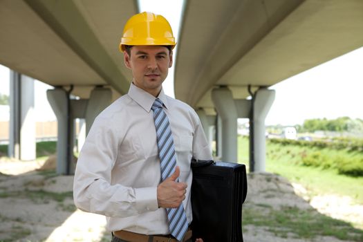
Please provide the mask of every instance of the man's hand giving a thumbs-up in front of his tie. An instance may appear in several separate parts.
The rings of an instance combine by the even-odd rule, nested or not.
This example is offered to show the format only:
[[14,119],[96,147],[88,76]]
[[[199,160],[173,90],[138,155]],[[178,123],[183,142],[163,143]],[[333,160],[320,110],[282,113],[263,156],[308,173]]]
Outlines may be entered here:
[[176,179],[179,175],[180,169],[179,167],[176,167],[174,173],[158,185],[159,207],[179,207],[180,203],[185,199],[187,183],[177,183]]

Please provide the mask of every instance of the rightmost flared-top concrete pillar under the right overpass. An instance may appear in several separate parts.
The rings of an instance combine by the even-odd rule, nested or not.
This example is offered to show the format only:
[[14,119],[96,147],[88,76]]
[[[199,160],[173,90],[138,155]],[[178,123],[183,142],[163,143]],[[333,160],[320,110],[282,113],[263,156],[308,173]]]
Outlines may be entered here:
[[254,171],[266,171],[265,119],[274,102],[274,90],[259,89],[254,97]]

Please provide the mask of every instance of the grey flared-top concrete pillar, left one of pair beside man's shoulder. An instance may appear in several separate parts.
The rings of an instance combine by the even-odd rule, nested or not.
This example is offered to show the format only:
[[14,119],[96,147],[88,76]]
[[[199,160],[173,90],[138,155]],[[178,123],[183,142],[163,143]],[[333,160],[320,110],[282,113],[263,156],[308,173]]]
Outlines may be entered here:
[[57,174],[67,174],[68,148],[68,94],[62,88],[46,91],[48,102],[52,107],[58,123],[57,137]]

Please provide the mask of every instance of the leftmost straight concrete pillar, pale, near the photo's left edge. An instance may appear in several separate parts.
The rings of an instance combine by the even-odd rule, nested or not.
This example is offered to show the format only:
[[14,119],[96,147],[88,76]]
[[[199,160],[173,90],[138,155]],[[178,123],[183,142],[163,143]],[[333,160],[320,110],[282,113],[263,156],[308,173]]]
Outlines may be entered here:
[[35,160],[34,80],[10,73],[10,132],[8,156]]

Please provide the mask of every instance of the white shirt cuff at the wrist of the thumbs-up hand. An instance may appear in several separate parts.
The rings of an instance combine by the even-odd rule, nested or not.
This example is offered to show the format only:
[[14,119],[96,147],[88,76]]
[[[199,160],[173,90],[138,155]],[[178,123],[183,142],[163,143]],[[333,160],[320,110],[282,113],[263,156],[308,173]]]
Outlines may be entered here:
[[150,212],[158,210],[158,187],[135,188],[136,210],[138,212]]

